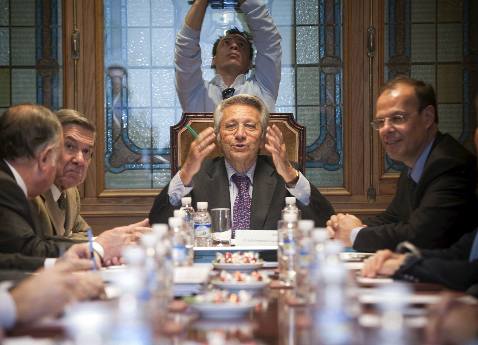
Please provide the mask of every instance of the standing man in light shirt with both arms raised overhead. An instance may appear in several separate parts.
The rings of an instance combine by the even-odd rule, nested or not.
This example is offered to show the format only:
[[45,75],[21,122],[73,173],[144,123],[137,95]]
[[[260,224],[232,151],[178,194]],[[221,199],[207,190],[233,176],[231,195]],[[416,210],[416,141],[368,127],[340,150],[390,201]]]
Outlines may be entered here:
[[[239,0],[239,5],[252,37],[237,28],[218,36],[211,63],[216,76],[211,80],[202,76],[199,46],[207,0],[194,1],[187,13],[176,38],[174,57],[176,91],[183,111],[210,112],[220,100],[238,94],[255,95],[270,112],[275,111],[281,81],[281,35],[266,4],[259,0]],[[246,78],[254,55],[251,38],[257,55],[254,73]]]

